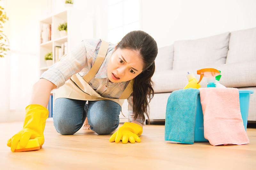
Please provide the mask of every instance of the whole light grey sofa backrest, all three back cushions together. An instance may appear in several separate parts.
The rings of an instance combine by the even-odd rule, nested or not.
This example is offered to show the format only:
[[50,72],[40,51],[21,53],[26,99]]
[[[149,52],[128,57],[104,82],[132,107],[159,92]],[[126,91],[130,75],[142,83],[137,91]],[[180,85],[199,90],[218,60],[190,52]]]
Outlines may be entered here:
[[156,72],[256,60],[256,28],[180,40],[158,49]]

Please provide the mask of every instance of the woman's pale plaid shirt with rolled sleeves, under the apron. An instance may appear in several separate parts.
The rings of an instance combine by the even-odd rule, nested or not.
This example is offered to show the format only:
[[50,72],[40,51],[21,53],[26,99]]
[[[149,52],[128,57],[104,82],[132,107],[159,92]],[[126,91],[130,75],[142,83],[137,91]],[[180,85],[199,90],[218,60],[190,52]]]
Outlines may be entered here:
[[[71,53],[68,53],[59,62],[53,64],[47,71],[45,71],[40,78],[51,81],[57,86],[65,84],[73,74],[78,73],[81,77],[89,72],[99,52],[101,40],[89,39],[83,40]],[[109,81],[107,75],[108,60],[115,49],[115,44],[109,43],[107,55],[100,66],[99,71],[95,77],[89,81],[92,88],[106,98],[119,98],[128,85],[129,81],[113,83]],[[128,121],[138,121],[144,123],[141,119],[134,119],[132,95],[128,97]]]

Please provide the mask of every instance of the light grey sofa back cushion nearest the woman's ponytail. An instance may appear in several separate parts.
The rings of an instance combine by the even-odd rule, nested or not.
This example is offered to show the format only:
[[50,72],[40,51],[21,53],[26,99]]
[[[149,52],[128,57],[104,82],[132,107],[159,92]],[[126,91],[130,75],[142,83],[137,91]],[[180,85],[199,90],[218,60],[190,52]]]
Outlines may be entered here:
[[158,48],[158,54],[156,56],[156,72],[172,70],[173,61],[173,44]]

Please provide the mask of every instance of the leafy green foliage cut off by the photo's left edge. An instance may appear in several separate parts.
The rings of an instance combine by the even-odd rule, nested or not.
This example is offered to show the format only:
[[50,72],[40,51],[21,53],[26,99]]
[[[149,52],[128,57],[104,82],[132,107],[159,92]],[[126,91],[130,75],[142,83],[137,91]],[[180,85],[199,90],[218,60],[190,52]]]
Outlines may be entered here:
[[[0,0],[1,1],[1,0]],[[3,24],[9,19],[6,16],[6,12],[3,11],[4,8],[2,8],[0,6],[0,57],[4,57],[4,55],[6,55],[6,52],[8,50],[10,50],[8,48],[8,45],[6,45],[5,43],[9,43],[6,35],[4,35],[3,33]]]

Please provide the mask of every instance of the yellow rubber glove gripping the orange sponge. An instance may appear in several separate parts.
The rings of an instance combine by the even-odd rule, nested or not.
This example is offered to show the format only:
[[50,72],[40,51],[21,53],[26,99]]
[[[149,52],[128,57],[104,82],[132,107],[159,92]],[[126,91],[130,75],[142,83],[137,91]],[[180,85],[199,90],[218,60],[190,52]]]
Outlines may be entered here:
[[21,148],[26,147],[29,139],[37,138],[39,145],[42,146],[44,144],[45,120],[48,115],[49,111],[44,106],[39,104],[28,105],[23,129],[7,141],[7,146],[11,147],[11,151],[15,151],[19,142]]

